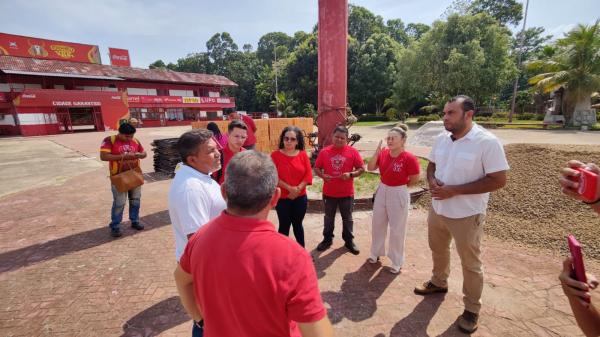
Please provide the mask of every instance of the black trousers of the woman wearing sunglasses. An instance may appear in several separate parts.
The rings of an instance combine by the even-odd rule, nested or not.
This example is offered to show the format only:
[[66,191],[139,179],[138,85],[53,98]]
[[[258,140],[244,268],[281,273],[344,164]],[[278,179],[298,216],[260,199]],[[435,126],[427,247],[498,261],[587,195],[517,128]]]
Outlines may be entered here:
[[279,199],[275,210],[279,219],[279,233],[289,236],[290,226],[294,229],[294,237],[302,247],[304,247],[304,227],[302,221],[306,215],[308,199],[306,195],[296,199]]

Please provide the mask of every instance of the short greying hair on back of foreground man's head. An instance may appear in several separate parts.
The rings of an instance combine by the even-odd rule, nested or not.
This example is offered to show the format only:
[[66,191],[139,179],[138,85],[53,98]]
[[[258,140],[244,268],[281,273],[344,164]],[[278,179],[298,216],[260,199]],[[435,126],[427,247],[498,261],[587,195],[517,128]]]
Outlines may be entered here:
[[277,181],[271,156],[253,150],[237,153],[227,164],[223,183],[227,208],[239,215],[257,214],[271,201]]

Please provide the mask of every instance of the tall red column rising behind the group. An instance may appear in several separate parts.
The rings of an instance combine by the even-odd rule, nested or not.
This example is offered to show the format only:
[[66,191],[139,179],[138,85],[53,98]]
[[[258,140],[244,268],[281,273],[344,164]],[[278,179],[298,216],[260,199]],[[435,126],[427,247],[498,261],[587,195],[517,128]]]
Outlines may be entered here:
[[348,82],[348,0],[319,0],[319,145],[346,120]]

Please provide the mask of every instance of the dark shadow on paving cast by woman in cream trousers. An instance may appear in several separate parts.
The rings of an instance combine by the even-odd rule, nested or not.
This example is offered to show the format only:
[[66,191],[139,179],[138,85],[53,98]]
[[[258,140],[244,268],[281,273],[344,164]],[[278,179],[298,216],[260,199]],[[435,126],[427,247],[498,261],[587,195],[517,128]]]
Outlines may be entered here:
[[331,323],[337,324],[343,318],[360,322],[372,317],[377,310],[377,299],[396,276],[381,268],[381,264],[368,262],[346,274],[339,292],[321,293],[323,301],[331,306],[328,310]]

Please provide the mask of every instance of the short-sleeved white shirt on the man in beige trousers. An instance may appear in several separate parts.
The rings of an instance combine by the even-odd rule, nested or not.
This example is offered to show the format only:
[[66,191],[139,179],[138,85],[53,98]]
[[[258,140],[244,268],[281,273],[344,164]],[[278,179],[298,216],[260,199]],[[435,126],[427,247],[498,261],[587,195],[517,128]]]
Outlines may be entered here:
[[[486,174],[509,169],[504,148],[491,132],[473,123],[471,131],[456,141],[451,133],[442,132],[429,154],[435,163],[435,177],[445,185],[462,185]],[[458,219],[485,214],[489,193],[462,194],[450,199],[431,201],[433,210],[448,218]]]

